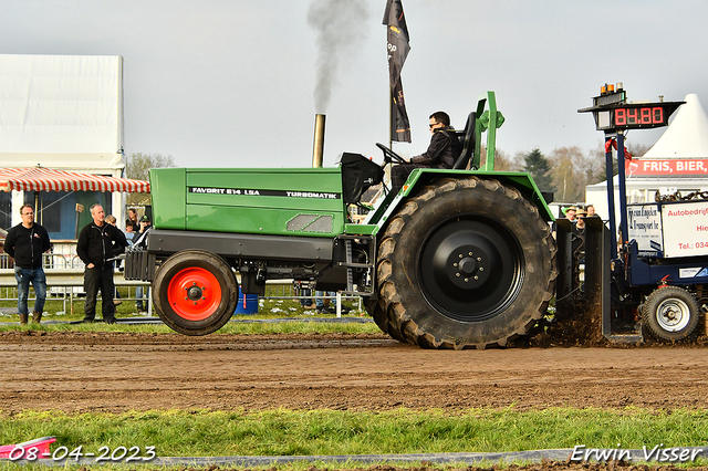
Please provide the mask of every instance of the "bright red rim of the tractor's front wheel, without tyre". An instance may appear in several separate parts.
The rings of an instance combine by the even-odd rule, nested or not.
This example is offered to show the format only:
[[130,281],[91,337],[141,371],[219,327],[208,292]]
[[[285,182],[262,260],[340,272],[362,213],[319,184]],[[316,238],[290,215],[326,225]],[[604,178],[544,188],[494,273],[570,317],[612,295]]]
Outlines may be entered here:
[[206,269],[184,269],[169,281],[167,301],[178,316],[187,321],[204,321],[221,304],[221,284]]

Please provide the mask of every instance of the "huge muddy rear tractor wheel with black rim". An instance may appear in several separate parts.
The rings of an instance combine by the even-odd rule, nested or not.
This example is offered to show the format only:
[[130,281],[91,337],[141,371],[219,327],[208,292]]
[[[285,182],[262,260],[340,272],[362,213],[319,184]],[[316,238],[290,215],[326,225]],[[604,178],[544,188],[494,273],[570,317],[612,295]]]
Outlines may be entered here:
[[376,322],[425,348],[503,347],[545,314],[555,254],[549,224],[517,189],[478,177],[434,181],[379,239]]

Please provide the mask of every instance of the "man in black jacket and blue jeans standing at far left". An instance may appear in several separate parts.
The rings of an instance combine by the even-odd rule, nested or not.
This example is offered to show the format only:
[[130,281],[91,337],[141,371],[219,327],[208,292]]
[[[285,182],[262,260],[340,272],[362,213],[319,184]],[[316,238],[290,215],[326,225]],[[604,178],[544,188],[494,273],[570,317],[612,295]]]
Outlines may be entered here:
[[42,253],[52,248],[49,234],[43,227],[34,222],[34,209],[30,205],[20,208],[22,222],[8,231],[4,251],[14,258],[14,278],[18,281],[18,312],[20,324],[27,324],[29,310],[27,299],[30,283],[34,287],[34,310],[32,321],[40,323],[46,300],[46,276],[42,269]]

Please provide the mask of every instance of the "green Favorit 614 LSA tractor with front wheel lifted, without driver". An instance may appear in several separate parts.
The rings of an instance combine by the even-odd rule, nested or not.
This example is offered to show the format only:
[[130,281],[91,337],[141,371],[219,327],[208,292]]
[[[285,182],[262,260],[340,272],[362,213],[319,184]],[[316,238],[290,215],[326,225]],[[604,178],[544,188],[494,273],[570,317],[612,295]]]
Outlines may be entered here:
[[[414,170],[362,223],[351,210],[384,170],[357,154],[335,168],[153,169],[155,229],[126,255],[126,279],[152,281],[160,318],[186,335],[231,318],[238,280],[260,295],[295,280],[363,296],[404,343],[504,346],[545,314],[558,270],[543,195],[528,174],[493,171],[502,122],[488,92],[458,132],[455,168]],[[384,166],[400,159],[378,147]]]

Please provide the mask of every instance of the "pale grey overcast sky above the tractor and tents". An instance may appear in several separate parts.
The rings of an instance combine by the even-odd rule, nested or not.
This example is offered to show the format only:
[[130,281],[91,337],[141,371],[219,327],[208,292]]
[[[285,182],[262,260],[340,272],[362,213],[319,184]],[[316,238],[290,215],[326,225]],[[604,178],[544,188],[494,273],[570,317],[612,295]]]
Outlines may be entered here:
[[[0,53],[124,57],[125,150],[186,167],[308,167],[315,113],[326,114],[325,166],[342,151],[381,160],[388,143],[385,0],[0,0]],[[705,0],[403,0],[403,70],[413,143],[428,115],[462,127],[492,90],[513,156],[603,136],[590,115],[604,83],[629,100],[708,106]],[[320,29],[336,33],[320,41]],[[329,48],[323,48],[323,44]],[[326,75],[319,63],[326,61]],[[324,80],[324,82],[323,82]],[[329,100],[315,92],[326,92]],[[325,93],[326,94],[326,93]],[[315,104],[317,103],[317,104]],[[656,130],[634,130],[650,145]]]

